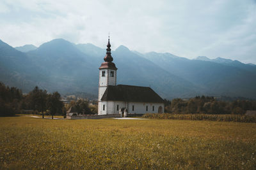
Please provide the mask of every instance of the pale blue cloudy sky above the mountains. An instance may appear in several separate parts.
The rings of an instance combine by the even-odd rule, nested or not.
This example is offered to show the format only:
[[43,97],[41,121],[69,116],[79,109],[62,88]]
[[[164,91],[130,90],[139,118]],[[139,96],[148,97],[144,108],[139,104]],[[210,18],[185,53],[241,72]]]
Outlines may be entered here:
[[256,0],[1,0],[0,39],[11,46],[63,38],[112,49],[223,57],[256,64]]

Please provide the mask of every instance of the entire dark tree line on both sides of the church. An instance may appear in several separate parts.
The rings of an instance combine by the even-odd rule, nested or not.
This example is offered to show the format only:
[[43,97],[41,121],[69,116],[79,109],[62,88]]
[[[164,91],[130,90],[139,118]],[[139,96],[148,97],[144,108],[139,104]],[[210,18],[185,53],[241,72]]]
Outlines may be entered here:
[[[5,86],[0,82],[0,116],[13,116],[15,113],[50,113],[52,115],[66,115],[66,111],[72,106],[77,113],[97,113],[97,105],[90,105],[87,100],[71,101],[63,104],[58,92],[49,93],[46,90],[35,87],[28,94],[22,94],[22,90],[16,87]],[[246,110],[256,110],[256,101],[235,100],[217,101],[214,97],[196,96],[191,99],[164,99],[165,113],[205,113],[205,114],[241,114]]]

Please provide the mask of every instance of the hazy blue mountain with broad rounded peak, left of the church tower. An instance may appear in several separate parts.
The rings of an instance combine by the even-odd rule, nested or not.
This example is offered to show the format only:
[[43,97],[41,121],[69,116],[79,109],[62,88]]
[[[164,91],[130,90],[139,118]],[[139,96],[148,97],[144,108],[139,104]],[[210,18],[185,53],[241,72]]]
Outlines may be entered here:
[[[49,76],[45,89],[97,93],[97,64],[64,39],[54,39],[27,53],[35,66]],[[49,88],[50,87],[50,88]]]

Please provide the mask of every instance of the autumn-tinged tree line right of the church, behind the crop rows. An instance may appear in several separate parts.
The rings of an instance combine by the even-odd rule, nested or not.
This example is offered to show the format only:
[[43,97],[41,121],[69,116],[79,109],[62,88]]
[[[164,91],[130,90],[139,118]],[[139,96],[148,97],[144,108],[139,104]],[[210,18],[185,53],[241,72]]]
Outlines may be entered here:
[[164,100],[164,111],[166,113],[178,114],[241,114],[246,110],[256,110],[256,101],[235,100],[217,101],[214,97],[196,96],[191,99]]

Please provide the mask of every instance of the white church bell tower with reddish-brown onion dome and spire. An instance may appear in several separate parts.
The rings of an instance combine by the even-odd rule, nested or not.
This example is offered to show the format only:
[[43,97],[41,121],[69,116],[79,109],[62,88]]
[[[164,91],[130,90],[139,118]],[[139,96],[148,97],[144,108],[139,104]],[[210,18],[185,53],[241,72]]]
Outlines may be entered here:
[[111,56],[111,45],[109,43],[108,36],[108,45],[107,45],[106,56],[104,57],[104,61],[99,67],[99,96],[98,96],[98,115],[106,115],[108,114],[108,104],[103,103],[101,98],[107,89],[108,85],[116,85],[116,66],[113,63],[113,57]]

